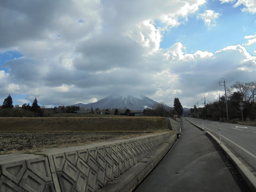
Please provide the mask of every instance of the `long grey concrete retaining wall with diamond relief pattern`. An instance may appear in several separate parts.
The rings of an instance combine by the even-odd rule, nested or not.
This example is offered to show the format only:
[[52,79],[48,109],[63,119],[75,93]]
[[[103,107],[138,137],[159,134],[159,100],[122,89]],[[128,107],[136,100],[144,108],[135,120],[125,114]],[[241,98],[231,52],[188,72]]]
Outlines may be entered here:
[[0,157],[2,192],[92,192],[119,177],[171,136],[170,132],[85,146]]

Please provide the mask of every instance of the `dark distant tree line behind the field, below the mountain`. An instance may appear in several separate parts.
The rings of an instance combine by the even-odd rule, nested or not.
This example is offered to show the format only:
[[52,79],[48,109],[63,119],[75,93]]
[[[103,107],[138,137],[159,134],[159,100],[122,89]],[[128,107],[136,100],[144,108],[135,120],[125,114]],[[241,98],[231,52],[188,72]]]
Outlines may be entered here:
[[[9,96],[4,100],[3,105],[0,107],[0,117],[50,117],[56,113],[72,113],[74,111],[80,110],[79,106],[54,106],[54,108],[45,108],[38,105],[38,101],[35,98],[34,102],[30,104],[23,104],[21,108],[14,108],[12,104],[12,97]],[[99,108],[84,109],[88,113],[94,113],[95,111],[100,111]],[[103,111],[108,111],[110,114],[119,115],[124,113],[126,116],[130,115],[130,109],[102,109]],[[179,98],[174,98],[174,107],[166,106],[164,103],[154,104],[152,108],[146,108],[143,110],[144,116],[162,116],[162,117],[173,117],[173,115],[178,115],[179,117],[183,114],[183,108],[180,103]]]

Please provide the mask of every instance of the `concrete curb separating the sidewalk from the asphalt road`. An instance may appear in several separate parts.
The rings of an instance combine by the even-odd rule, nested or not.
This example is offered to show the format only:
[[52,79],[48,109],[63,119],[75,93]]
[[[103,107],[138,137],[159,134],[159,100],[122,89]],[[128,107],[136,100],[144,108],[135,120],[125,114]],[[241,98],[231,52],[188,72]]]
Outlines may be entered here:
[[200,130],[205,131],[206,134],[210,136],[218,144],[218,146],[226,154],[226,157],[236,167],[236,169],[238,170],[238,172],[240,173],[240,175],[242,176],[250,190],[256,192],[256,177],[246,168],[246,166],[244,166],[244,164],[242,164],[242,162],[238,158],[236,158],[236,156],[226,146],[224,146],[224,144],[220,143],[220,140],[218,140],[218,138],[216,138],[213,134],[211,134],[209,131],[206,131],[200,125],[191,122],[190,120],[187,121],[196,126],[197,128],[199,128]]

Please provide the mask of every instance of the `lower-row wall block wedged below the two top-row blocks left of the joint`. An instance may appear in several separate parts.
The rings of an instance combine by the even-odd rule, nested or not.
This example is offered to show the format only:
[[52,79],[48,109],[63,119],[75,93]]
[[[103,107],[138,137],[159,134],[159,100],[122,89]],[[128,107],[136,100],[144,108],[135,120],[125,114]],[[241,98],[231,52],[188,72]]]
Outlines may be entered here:
[[24,176],[20,180],[20,186],[28,192],[42,192],[45,182],[34,173],[26,170]]

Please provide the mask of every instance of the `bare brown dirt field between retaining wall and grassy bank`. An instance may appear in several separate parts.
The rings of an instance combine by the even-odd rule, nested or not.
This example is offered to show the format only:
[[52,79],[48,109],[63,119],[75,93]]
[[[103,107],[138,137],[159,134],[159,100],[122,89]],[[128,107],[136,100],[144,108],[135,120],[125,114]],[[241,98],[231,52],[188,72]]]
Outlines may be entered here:
[[129,138],[153,132],[0,132],[0,154],[31,152],[42,148],[84,145],[118,138]]

